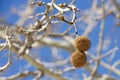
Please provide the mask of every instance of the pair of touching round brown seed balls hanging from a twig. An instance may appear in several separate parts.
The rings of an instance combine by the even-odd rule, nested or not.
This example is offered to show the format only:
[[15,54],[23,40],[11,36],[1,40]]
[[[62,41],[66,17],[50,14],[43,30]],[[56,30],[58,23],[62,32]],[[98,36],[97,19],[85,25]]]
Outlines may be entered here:
[[79,36],[75,39],[74,44],[77,50],[71,55],[71,63],[76,68],[80,68],[87,62],[87,56],[84,51],[90,48],[91,41],[86,36]]

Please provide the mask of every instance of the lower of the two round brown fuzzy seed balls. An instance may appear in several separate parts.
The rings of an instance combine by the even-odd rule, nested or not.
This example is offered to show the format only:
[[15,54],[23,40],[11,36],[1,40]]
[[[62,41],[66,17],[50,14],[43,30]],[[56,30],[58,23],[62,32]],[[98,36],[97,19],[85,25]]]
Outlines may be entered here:
[[71,55],[71,63],[73,66],[76,68],[83,67],[87,62],[87,57],[86,54],[83,51],[76,50],[72,55]]

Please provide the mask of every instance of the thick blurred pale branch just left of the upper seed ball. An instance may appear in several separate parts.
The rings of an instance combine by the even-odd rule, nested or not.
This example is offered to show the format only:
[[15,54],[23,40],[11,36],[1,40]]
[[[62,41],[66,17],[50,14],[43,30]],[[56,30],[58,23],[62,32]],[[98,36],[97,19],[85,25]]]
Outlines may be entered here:
[[[71,39],[70,37],[67,37],[67,38]],[[75,51],[75,48],[74,48],[74,45],[73,45],[73,39],[71,39],[71,41],[65,41],[65,40],[58,41],[58,40],[55,40],[55,39],[51,39],[49,37],[38,36],[33,45],[34,46],[35,45],[40,46],[41,44],[50,45],[50,46],[54,46],[54,47],[59,47],[59,48],[62,48],[62,49],[66,49],[70,52]]]

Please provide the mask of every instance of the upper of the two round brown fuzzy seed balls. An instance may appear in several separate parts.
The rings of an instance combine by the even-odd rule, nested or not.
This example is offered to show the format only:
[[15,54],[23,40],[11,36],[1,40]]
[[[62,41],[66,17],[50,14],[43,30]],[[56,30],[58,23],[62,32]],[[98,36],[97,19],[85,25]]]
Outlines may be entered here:
[[75,47],[79,51],[87,51],[91,46],[91,41],[86,36],[79,36],[75,39]]

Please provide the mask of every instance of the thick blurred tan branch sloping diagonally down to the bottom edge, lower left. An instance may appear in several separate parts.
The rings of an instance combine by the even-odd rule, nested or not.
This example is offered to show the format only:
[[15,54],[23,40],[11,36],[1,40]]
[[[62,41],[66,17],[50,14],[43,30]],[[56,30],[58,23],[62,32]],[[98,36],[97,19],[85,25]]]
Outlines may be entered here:
[[[14,46],[14,51],[17,53],[17,51],[19,50],[18,47]],[[21,57],[23,57],[24,59],[26,59],[29,63],[31,63],[33,66],[35,66],[38,70],[42,70],[43,73],[45,73],[48,76],[51,76],[57,80],[68,80],[64,77],[62,77],[59,74],[55,74],[54,72],[50,71],[48,68],[46,68],[43,64],[41,64],[41,62],[38,59],[34,59],[32,58],[29,54],[26,54],[25,51],[21,51],[23,53],[23,55],[21,55]]]

